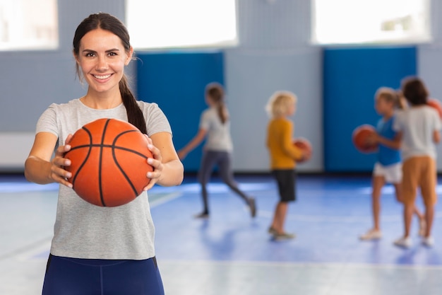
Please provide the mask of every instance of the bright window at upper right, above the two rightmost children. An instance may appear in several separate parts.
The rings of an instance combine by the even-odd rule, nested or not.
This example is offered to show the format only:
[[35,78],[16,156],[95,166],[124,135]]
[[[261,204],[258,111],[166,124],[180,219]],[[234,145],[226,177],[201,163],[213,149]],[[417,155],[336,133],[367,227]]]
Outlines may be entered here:
[[430,0],[313,0],[316,44],[431,40]]

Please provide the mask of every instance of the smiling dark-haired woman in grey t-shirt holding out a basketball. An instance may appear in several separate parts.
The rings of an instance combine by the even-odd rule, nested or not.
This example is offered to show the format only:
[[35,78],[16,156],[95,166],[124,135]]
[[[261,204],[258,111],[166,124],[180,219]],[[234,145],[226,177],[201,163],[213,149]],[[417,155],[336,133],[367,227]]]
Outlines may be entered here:
[[146,149],[153,153],[148,163],[154,170],[138,171],[150,178],[144,190],[155,183],[179,185],[184,168],[171,127],[158,105],[136,100],[129,89],[124,67],[133,47],[119,19],[108,13],[85,18],[73,37],[73,57],[88,90],[82,98],[53,103],[43,112],[25,161],[29,181],[60,183],[42,294],[164,295],[147,192],[119,207],[85,202],[72,189],[72,175],[65,170],[71,161],[64,154],[71,149],[72,134],[86,123],[102,117],[129,121],[147,134]]

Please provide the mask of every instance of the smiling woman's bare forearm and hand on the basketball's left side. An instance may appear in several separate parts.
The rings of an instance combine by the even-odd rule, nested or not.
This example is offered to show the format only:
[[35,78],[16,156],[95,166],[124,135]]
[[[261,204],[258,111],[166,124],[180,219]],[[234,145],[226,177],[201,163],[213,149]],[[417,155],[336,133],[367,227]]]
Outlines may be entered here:
[[[70,135],[66,142],[71,137]],[[32,183],[42,185],[61,183],[62,185],[72,187],[71,183],[66,180],[66,178],[71,177],[71,173],[62,168],[63,166],[71,165],[70,160],[63,158],[64,153],[71,149],[71,146],[59,146],[54,158],[52,158],[56,141],[57,137],[49,132],[39,132],[35,135],[34,144],[25,161],[25,178]]]

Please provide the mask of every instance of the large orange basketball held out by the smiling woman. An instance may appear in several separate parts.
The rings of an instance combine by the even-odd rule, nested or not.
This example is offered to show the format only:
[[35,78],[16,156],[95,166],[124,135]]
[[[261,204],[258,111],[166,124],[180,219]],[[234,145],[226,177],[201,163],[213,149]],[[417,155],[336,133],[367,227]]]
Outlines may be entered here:
[[117,207],[135,199],[148,185],[153,168],[148,141],[138,128],[116,119],[99,119],[78,129],[65,158],[71,160],[69,179],[85,201]]

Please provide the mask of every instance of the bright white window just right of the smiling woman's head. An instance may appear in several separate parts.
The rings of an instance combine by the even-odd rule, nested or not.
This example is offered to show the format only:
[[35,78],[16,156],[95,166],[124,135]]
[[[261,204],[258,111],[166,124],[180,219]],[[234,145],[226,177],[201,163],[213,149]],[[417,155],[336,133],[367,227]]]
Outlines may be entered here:
[[237,45],[235,0],[126,0],[138,49]]

